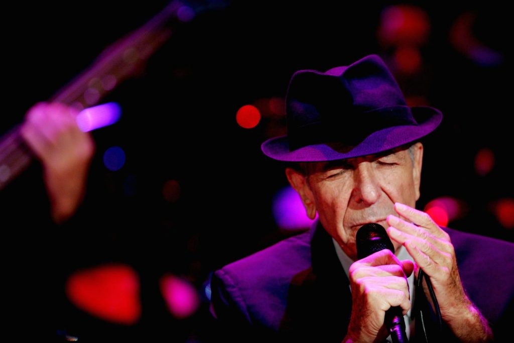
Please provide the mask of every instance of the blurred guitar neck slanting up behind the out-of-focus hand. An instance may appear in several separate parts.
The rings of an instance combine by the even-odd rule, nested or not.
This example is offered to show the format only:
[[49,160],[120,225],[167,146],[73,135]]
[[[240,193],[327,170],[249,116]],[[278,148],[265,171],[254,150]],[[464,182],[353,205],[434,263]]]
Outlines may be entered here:
[[[107,47],[95,62],[60,89],[50,101],[83,110],[97,104],[122,81],[141,70],[146,60],[170,37],[180,23],[177,13],[184,4],[171,2],[149,22]],[[206,7],[197,7],[195,13]],[[0,138],[0,190],[21,174],[31,163],[33,154],[20,134],[20,126]]]

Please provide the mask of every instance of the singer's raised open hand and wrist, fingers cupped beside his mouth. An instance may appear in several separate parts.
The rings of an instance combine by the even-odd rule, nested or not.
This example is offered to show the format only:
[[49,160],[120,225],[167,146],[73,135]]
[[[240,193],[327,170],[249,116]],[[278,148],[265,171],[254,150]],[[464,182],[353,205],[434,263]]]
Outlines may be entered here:
[[[443,320],[463,341],[490,339],[487,321],[464,292],[448,234],[425,212],[400,203],[395,204],[395,211],[406,220],[389,215],[387,232],[391,239],[407,248],[416,262],[416,277],[419,268],[430,277]],[[427,299],[431,299],[426,285],[424,289]]]

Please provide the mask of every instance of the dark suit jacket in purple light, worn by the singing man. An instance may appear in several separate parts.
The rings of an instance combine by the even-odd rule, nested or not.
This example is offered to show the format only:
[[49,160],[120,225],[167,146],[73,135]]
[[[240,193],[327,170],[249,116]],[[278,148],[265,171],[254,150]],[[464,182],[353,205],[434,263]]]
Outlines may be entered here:
[[[506,318],[514,314],[514,244],[444,229],[468,296],[503,341]],[[211,294],[217,334],[234,341],[340,342],[352,309],[348,278],[319,222],[217,270]],[[431,312],[424,296],[415,298],[414,308]],[[454,339],[446,326],[434,329],[435,319],[433,312],[425,318],[429,341]],[[411,341],[416,339],[421,341],[414,332]]]

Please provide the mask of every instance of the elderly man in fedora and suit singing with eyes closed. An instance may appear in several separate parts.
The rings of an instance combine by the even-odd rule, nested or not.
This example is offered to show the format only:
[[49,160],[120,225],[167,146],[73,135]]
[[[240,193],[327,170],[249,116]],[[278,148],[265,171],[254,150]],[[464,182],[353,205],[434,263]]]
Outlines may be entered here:
[[[211,312],[220,332],[241,341],[384,341],[386,312],[399,306],[411,341],[503,337],[514,245],[440,228],[415,209],[419,139],[442,114],[407,106],[375,55],[325,73],[298,71],[286,113],[288,135],[262,150],[289,163],[289,183],[319,219],[214,273]],[[356,233],[368,223],[387,228],[395,254],[357,258]],[[423,286],[415,287],[421,273]]]

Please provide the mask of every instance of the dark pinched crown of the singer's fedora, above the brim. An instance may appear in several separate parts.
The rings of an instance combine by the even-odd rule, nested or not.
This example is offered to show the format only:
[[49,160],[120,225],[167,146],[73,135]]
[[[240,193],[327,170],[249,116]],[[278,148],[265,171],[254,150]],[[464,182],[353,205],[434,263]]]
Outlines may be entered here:
[[[297,71],[289,83],[286,115],[292,150],[329,141],[351,146],[379,128],[416,124],[400,87],[377,55],[325,73]],[[347,128],[351,130],[342,134]]]

